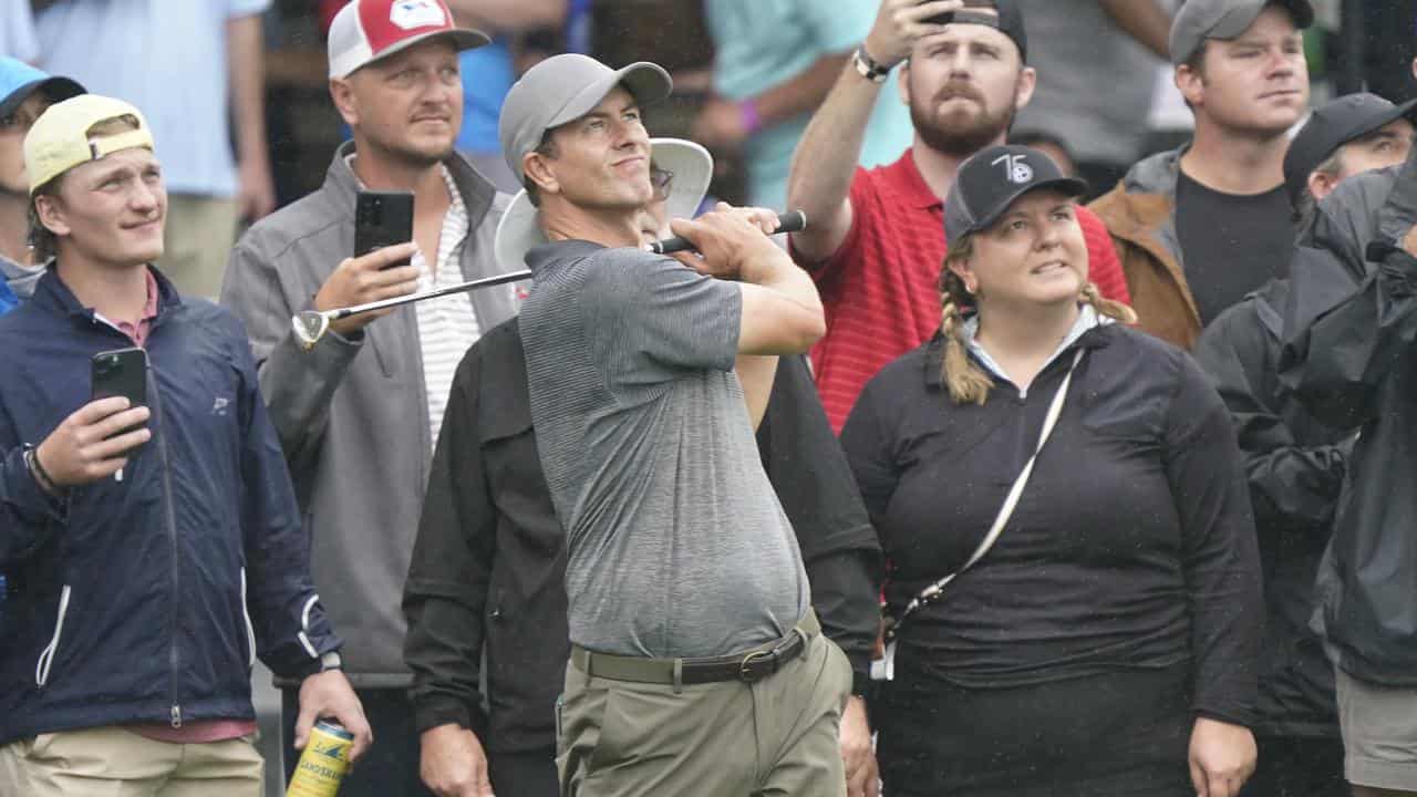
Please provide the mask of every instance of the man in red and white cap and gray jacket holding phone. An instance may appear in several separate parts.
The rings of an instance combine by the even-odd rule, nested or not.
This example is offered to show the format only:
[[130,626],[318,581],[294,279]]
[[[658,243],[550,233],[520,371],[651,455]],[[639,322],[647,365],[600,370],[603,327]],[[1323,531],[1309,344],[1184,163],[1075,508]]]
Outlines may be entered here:
[[[458,360],[482,330],[514,315],[516,295],[509,286],[353,316],[309,349],[293,338],[290,316],[500,271],[492,244],[506,200],[453,152],[458,52],[486,41],[453,27],[442,0],[354,0],[340,10],[329,37],[330,96],[354,140],[334,153],[319,191],[242,237],[222,286],[261,363],[315,583],[350,642],[332,664],[349,672],[381,740],[344,784],[346,797],[428,794],[398,601]],[[350,257],[361,189],[414,193],[417,245]],[[286,691],[288,735],[295,698]]]

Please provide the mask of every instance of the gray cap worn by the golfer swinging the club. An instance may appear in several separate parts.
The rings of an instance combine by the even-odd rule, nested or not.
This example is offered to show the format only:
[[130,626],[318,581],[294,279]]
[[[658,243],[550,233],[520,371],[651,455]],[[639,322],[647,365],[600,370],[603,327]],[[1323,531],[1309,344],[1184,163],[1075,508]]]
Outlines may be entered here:
[[669,72],[648,61],[611,69],[595,58],[571,52],[527,69],[507,92],[497,122],[502,156],[517,180],[526,180],[521,159],[541,146],[547,130],[585,116],[622,84],[640,105],[653,105],[674,88]]

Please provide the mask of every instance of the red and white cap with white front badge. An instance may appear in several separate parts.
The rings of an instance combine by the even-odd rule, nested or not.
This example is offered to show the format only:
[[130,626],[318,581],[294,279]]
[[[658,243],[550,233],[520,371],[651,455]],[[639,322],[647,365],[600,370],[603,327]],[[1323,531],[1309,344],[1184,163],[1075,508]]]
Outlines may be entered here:
[[444,0],[350,0],[330,23],[330,79],[347,78],[419,41],[448,37],[458,50],[487,44],[487,37],[452,24]]

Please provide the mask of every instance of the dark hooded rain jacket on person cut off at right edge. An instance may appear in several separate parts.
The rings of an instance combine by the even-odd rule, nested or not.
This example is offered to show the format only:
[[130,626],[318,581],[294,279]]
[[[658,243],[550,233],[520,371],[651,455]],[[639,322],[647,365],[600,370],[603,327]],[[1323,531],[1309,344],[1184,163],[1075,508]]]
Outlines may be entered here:
[[1417,686],[1417,258],[1396,243],[1414,221],[1414,157],[1350,177],[1319,203],[1314,243],[1367,274],[1312,319],[1285,319],[1280,364],[1285,387],[1319,421],[1360,427],[1319,570],[1315,627],[1343,671],[1403,688]]

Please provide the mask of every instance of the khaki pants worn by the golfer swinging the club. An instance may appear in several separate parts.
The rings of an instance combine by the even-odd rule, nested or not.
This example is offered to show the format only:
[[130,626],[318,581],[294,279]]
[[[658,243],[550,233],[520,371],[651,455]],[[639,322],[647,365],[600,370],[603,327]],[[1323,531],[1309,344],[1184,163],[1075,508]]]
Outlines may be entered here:
[[635,684],[565,668],[557,706],[563,797],[846,794],[846,654],[820,634],[758,681]]

